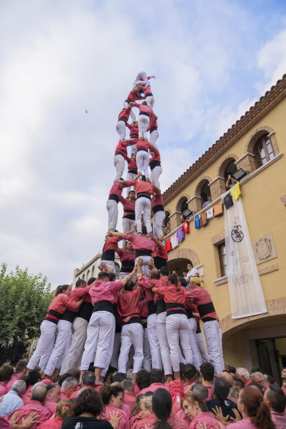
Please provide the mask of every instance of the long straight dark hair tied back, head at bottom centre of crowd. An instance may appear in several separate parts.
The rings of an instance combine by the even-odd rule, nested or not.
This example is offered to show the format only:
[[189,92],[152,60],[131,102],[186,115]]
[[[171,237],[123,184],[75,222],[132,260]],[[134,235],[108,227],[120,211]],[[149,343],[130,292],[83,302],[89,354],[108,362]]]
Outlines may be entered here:
[[155,421],[154,429],[171,429],[167,422],[172,411],[172,398],[166,389],[156,389],[152,397],[152,410],[160,421]]

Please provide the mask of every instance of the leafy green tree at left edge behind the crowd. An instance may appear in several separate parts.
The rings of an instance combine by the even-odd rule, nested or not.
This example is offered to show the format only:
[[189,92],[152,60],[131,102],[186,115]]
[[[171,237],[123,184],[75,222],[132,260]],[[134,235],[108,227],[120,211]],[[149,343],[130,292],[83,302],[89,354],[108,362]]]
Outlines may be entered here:
[[53,300],[50,283],[41,274],[33,276],[28,268],[0,272],[0,365],[23,359],[30,340],[39,336],[39,327]]

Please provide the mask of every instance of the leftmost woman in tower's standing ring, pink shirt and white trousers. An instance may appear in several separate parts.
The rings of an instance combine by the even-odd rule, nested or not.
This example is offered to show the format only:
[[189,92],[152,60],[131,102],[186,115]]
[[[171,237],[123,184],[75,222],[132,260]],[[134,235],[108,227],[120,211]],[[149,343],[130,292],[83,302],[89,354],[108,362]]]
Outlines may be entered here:
[[84,298],[77,301],[70,299],[71,286],[62,285],[55,289],[55,299],[48,306],[48,314],[45,316],[44,321],[41,323],[41,336],[37,345],[37,349],[32,354],[32,357],[27,365],[27,370],[30,372],[35,368],[39,362],[41,370],[46,370],[46,365],[50,354],[53,351],[55,335],[57,330],[57,323],[66,309],[77,309],[82,304]]

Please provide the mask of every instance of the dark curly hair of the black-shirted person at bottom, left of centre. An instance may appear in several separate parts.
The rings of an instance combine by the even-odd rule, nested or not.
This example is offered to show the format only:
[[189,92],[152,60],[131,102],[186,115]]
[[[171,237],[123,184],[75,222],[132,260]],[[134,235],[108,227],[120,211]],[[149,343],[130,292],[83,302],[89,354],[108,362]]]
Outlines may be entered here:
[[98,392],[93,389],[84,389],[79,396],[75,398],[73,403],[73,415],[80,416],[84,412],[89,412],[93,416],[98,417],[102,414],[104,406]]

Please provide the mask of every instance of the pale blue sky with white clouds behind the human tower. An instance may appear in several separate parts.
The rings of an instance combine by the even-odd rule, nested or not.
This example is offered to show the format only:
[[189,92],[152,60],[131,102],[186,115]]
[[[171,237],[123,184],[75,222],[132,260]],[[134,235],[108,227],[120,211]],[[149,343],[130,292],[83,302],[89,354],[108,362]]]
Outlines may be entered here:
[[1,0],[0,39],[1,261],[59,285],[102,249],[137,72],[164,191],[286,73],[286,3]]

